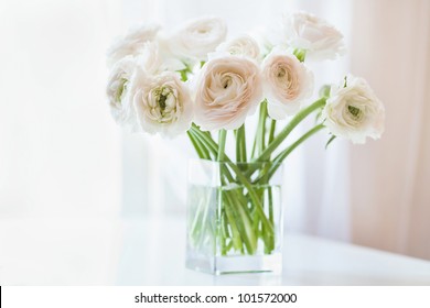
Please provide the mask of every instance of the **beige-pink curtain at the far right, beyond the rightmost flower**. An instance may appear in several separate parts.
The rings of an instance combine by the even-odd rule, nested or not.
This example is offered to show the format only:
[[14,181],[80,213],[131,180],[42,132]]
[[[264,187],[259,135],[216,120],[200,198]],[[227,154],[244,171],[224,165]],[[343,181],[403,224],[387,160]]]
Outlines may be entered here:
[[355,1],[353,70],[386,105],[351,152],[354,242],[430,258],[430,1]]

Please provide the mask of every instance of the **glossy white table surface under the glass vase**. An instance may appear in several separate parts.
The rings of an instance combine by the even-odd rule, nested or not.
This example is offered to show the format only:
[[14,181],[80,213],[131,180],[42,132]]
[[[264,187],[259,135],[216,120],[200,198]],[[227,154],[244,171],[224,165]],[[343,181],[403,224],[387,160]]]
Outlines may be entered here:
[[430,285],[430,262],[286,237],[283,274],[184,267],[184,218],[0,219],[0,285]]

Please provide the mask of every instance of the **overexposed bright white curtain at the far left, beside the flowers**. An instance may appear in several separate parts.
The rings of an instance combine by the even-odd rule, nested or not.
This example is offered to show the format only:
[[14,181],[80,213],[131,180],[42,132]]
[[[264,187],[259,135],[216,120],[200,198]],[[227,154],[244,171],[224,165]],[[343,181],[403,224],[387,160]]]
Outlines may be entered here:
[[118,1],[0,2],[0,218],[116,215],[120,135],[105,99]]

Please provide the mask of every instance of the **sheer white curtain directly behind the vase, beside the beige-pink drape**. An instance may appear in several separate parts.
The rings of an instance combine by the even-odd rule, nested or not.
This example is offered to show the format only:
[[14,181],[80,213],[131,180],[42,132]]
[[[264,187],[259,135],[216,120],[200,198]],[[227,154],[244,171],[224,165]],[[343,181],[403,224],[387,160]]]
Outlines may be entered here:
[[[190,18],[218,15],[227,21],[229,36],[256,31],[256,26],[276,26],[276,20],[280,21],[282,13],[299,9],[322,15],[344,33],[350,31],[351,2],[341,0],[324,1],[324,4],[314,0],[127,0],[123,6],[125,23],[128,24],[154,21],[165,26],[175,26]],[[348,70],[347,61],[343,58],[333,63],[313,64],[316,85],[323,81],[337,82]],[[186,161],[194,156],[186,138],[174,141],[131,135],[123,138],[123,212],[184,212]],[[347,146],[337,142],[325,151],[326,138],[325,134],[313,138],[289,157],[284,177],[286,226],[288,230],[348,240]]]

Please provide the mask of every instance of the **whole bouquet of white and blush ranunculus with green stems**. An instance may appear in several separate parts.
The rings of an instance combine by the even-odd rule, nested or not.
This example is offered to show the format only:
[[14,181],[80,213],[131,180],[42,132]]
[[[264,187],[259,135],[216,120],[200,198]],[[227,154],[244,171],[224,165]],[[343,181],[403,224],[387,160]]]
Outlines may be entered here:
[[[224,188],[213,215],[216,226],[208,221],[207,205],[193,208],[189,245],[194,249],[211,248],[221,256],[271,254],[279,242],[273,191],[261,187],[282,161],[324,128],[329,143],[336,136],[364,143],[383,133],[384,106],[362,78],[347,75],[309,101],[315,91],[308,61],[342,55],[343,35],[303,12],[286,16],[281,29],[277,43],[249,35],[226,41],[223,20],[200,18],[173,31],[135,29],[108,51],[107,95],[115,120],[133,132],[170,138],[186,132],[200,158],[219,162],[217,180]],[[257,109],[248,151],[245,121]],[[315,125],[282,146],[311,113],[319,114]],[[277,125],[286,119],[282,128]],[[225,152],[228,131],[236,144],[234,158]],[[197,204],[208,199],[195,194]]]

